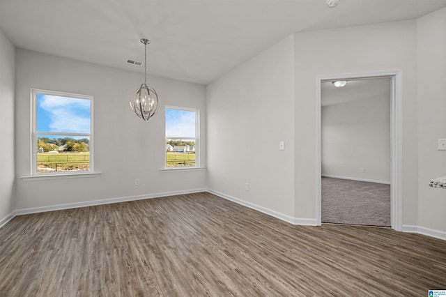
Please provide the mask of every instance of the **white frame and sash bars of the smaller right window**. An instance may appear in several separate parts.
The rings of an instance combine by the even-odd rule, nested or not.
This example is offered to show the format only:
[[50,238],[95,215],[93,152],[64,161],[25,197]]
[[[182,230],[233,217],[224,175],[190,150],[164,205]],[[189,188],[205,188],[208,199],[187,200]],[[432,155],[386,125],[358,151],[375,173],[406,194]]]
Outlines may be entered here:
[[[195,137],[181,137],[178,135],[166,135],[166,111],[167,109],[183,110],[185,112],[195,112]],[[195,165],[194,166],[176,166],[167,167],[167,151],[166,142],[167,139],[185,139],[195,141]],[[166,105],[164,106],[164,169],[166,170],[187,170],[197,169],[200,167],[200,109],[191,107],[180,107]]]

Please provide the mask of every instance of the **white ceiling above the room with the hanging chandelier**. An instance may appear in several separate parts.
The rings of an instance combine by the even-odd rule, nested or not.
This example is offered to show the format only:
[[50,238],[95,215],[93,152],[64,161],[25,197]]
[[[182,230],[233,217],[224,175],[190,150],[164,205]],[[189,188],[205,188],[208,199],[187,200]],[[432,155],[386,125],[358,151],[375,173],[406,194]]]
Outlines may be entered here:
[[16,46],[207,84],[293,32],[414,19],[446,0],[0,0]]

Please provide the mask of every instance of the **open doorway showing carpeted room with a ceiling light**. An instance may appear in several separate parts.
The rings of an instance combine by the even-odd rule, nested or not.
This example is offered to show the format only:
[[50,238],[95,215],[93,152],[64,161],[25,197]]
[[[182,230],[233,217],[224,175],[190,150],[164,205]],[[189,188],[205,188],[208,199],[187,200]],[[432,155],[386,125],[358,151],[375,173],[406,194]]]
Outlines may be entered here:
[[322,223],[390,227],[390,77],[322,82]]

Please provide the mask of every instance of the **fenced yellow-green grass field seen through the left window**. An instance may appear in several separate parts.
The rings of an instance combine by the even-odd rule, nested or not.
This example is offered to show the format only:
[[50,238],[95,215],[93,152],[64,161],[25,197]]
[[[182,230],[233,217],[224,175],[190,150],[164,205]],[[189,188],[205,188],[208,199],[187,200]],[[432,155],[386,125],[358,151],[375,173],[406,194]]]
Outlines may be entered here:
[[37,172],[89,170],[90,153],[38,153]]

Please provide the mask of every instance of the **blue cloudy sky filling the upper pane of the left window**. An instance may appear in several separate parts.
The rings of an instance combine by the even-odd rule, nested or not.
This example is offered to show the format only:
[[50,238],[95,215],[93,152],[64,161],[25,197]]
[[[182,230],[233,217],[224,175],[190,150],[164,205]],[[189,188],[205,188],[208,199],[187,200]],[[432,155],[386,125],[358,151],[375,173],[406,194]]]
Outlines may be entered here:
[[37,94],[38,132],[90,133],[91,100]]

